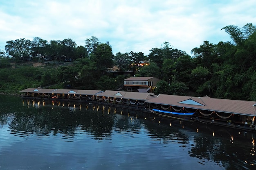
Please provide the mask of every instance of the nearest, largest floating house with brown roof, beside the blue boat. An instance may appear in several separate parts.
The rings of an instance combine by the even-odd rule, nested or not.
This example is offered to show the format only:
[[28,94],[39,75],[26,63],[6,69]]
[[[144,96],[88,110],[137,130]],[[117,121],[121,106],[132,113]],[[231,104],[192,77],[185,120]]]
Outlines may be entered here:
[[204,118],[204,120],[231,121],[237,124],[253,125],[256,116],[255,101],[159,94],[156,98],[146,102],[149,104],[149,108],[185,113],[194,111],[195,116]]

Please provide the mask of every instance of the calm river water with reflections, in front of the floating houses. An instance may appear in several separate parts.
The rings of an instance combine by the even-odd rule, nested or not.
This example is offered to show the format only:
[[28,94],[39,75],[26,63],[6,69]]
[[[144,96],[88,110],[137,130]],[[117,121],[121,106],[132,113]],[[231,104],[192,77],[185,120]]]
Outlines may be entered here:
[[0,170],[253,170],[255,133],[0,96]]

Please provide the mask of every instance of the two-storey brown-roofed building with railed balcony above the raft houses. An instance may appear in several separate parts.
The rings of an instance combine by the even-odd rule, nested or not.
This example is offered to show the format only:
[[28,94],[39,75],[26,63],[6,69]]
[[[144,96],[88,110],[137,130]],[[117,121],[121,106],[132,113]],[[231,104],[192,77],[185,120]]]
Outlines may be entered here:
[[124,79],[124,89],[127,92],[153,92],[157,82],[155,77],[130,77]]

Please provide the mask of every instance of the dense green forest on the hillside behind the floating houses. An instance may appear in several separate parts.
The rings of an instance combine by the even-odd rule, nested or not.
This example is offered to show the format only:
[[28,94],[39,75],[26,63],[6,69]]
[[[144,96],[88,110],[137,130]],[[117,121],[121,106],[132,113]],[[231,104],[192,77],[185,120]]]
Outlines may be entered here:
[[[232,41],[204,41],[191,55],[166,41],[142,52],[112,53],[97,37],[76,46],[72,39],[46,41],[39,37],[7,41],[0,51],[0,93],[26,88],[122,90],[128,76],[155,76],[155,94],[210,96],[256,101],[256,26],[221,28]],[[139,66],[140,61],[149,65]]]

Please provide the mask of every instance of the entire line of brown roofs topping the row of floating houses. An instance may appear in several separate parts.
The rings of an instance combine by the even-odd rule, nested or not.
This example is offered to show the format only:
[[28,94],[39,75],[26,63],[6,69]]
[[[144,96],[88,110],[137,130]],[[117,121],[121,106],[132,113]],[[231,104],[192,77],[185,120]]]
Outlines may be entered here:
[[201,109],[216,112],[242,114],[248,116],[256,116],[256,101],[245,100],[228,100],[205,97],[191,97],[191,96],[175,96],[153,93],[138,93],[138,92],[123,92],[106,90],[77,90],[77,89],[41,89],[28,88],[20,92],[29,93],[54,93],[54,94],[81,94],[81,95],[98,95],[107,97],[126,98],[133,100],[144,100],[148,103],[155,103],[159,105],[171,105],[178,107],[186,107],[192,109]]

